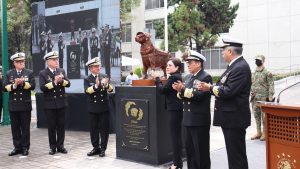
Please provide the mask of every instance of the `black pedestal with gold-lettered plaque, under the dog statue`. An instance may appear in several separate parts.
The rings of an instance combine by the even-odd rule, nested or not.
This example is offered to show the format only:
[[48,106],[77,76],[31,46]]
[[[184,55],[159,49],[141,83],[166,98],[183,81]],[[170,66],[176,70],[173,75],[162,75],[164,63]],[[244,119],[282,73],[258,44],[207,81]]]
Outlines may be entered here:
[[159,165],[172,160],[169,114],[156,87],[116,87],[117,157]]

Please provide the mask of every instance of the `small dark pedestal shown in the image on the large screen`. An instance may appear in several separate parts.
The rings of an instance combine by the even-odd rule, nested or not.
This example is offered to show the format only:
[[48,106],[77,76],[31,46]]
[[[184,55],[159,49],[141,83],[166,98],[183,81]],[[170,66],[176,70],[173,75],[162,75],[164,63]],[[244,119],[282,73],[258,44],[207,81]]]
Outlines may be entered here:
[[80,45],[67,46],[68,78],[80,79]]

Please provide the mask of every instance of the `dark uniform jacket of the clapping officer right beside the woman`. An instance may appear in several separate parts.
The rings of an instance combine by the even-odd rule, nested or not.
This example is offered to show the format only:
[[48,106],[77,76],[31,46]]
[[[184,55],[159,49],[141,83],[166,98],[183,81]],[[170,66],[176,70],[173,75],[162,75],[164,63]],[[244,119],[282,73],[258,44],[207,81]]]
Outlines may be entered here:
[[185,78],[185,89],[179,93],[183,100],[183,125],[185,126],[209,126],[210,98],[208,91],[193,89],[194,80],[212,83],[212,77],[201,69],[195,76],[188,74]]

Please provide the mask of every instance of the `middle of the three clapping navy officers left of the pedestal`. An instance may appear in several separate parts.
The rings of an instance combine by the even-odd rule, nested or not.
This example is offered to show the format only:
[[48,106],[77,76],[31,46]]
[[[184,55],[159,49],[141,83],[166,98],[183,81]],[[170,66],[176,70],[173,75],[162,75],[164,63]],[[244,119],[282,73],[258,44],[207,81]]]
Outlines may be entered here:
[[[58,68],[58,52],[52,51],[44,56],[47,68],[39,74],[39,84],[44,92],[44,108],[48,123],[50,155],[57,152],[68,153],[64,147],[65,140],[65,108],[67,96],[65,88],[70,81],[65,70]],[[57,136],[57,137],[56,137]]]

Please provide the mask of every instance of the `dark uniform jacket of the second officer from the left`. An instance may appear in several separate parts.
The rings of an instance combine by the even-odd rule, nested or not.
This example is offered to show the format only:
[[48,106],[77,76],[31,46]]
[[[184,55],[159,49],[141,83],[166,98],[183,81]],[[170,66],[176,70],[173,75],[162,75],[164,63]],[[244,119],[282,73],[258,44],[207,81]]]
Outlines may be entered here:
[[57,68],[55,74],[62,74],[64,76],[63,82],[55,84],[55,75],[50,71],[49,68],[42,70],[39,74],[40,88],[44,92],[45,109],[60,109],[66,107],[67,105],[65,87],[70,87],[71,83],[67,78],[64,69]]

